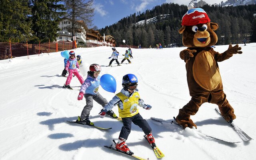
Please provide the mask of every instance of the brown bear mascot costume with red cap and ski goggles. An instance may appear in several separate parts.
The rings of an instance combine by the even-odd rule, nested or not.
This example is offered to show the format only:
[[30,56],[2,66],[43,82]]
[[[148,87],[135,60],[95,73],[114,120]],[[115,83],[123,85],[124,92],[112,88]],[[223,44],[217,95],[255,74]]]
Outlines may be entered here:
[[217,29],[218,24],[210,22],[202,8],[194,8],[191,4],[188,6],[179,30],[183,45],[188,47],[180,52],[180,58],[186,62],[188,88],[192,97],[176,117],[183,128],[196,127],[190,116],[195,115],[204,102],[217,104],[226,121],[236,118],[223,92],[218,62],[227,60],[233,54],[242,54],[242,51],[239,51],[241,47],[238,44],[234,47],[230,44],[225,52],[215,52],[212,46],[218,41],[214,32]]

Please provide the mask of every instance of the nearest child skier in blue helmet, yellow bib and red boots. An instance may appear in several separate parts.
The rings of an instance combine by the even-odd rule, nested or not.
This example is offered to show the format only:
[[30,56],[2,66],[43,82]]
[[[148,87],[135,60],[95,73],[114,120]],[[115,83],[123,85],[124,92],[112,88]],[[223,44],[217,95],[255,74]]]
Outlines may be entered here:
[[123,76],[122,86],[124,87],[120,93],[116,94],[110,102],[103,107],[100,116],[103,118],[108,110],[111,110],[116,104],[118,105],[119,116],[122,118],[124,126],[122,126],[119,134],[119,140],[116,143],[116,149],[133,154],[128,148],[125,141],[127,140],[132,122],[142,128],[146,134],[146,138],[151,146],[156,146],[154,137],[152,136],[152,129],[148,122],[140,116],[138,106],[150,110],[152,106],[144,104],[144,101],[140,99],[140,95],[137,90],[138,79],[134,74],[126,74]]

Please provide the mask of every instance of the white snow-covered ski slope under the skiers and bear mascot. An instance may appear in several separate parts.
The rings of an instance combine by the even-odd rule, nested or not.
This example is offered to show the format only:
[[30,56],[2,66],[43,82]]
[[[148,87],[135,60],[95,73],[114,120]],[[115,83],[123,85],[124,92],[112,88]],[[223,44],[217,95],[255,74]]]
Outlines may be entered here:
[[[250,137],[256,138],[256,43],[242,47],[243,54],[219,62],[224,92],[235,110],[236,123]],[[118,48],[122,54],[127,48]],[[185,63],[179,53],[184,48],[132,49],[132,64],[118,67],[102,67],[103,74],[111,74],[122,89],[122,76],[128,73],[138,77],[140,97],[151,110],[139,108],[140,114],[153,130],[157,146],[165,154],[165,160],[252,160],[256,159],[256,142],[226,143],[212,140],[204,134],[229,141],[242,141],[233,129],[214,110],[214,104],[203,104],[198,113],[191,116],[198,129],[182,130],[169,123],[158,123],[150,117],[171,121],[178,110],[190,100],[186,82]],[[224,52],[228,45],[216,46]],[[93,63],[107,65],[112,51],[110,47],[78,48],[76,55],[83,57],[88,66]],[[119,62],[123,56],[119,56]],[[126,61],[127,63],[127,61]],[[116,65],[116,63],[113,63]],[[60,52],[44,53],[12,60],[0,60],[0,159],[1,160],[128,160],[104,145],[118,140],[122,123],[110,117],[100,118],[101,106],[94,102],[90,120],[97,126],[112,127],[98,130],[90,126],[69,124],[76,120],[85,100],[77,100],[80,83],[71,81],[73,90],[62,88],[66,78],[60,76],[64,69]],[[84,77],[85,78],[85,77]],[[108,101],[115,95],[99,89]],[[113,108],[118,113],[117,106]],[[202,133],[202,134],[201,134]],[[126,141],[136,156],[156,160],[142,130],[133,125]]]

